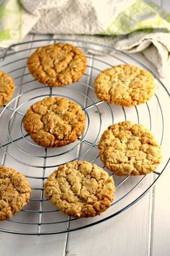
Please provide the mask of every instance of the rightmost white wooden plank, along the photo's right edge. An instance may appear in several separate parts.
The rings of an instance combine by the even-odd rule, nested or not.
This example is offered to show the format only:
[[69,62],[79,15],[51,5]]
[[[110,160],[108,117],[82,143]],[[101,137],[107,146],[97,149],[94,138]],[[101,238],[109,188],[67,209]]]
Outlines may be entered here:
[[[168,80],[164,80],[164,85],[166,88],[169,88]],[[170,88],[169,88],[170,89]],[[164,106],[164,114],[169,116],[169,101],[165,101]],[[164,158],[169,157],[169,129],[170,124],[169,120],[166,117],[164,124],[164,133],[166,135],[164,143]],[[170,200],[169,200],[169,179],[170,173],[169,168],[166,168],[164,174],[156,184],[153,193],[153,220],[152,220],[152,234],[151,234],[151,255],[152,256],[168,256],[170,254],[170,223],[169,223],[169,215],[170,215]]]

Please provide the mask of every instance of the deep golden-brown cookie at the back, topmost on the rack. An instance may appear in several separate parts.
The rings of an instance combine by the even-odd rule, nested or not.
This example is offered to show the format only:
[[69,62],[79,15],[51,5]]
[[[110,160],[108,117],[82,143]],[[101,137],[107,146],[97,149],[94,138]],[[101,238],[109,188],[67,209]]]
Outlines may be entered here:
[[36,80],[48,86],[64,86],[79,80],[86,71],[86,56],[68,43],[37,48],[27,61]]

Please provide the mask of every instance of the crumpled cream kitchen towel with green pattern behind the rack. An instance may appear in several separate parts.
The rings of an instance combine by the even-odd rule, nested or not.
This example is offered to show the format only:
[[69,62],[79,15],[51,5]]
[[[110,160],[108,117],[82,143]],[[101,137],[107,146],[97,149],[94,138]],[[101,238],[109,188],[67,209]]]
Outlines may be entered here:
[[170,14],[142,0],[0,0],[0,47],[30,32],[142,51],[160,76],[170,67]]

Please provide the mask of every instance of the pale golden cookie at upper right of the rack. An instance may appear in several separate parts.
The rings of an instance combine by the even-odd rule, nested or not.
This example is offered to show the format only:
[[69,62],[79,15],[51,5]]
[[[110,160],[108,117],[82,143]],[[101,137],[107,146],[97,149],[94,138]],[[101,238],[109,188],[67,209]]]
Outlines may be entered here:
[[156,90],[153,76],[145,69],[118,65],[99,73],[94,91],[101,101],[136,106],[148,101]]

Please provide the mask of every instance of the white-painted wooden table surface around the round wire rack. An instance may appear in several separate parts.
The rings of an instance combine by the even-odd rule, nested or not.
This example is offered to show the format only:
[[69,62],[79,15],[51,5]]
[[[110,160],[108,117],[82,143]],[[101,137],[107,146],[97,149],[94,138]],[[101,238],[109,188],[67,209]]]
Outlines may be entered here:
[[[168,0],[154,2],[170,12]],[[45,38],[45,35],[28,35],[25,40],[39,38]],[[153,72],[155,71],[143,56],[140,54],[133,54],[133,56]],[[170,88],[169,77],[166,77],[163,82],[167,88]],[[156,187],[139,202],[117,217],[89,229],[52,236],[0,233],[0,256],[169,256],[169,180],[170,172],[167,168],[158,179]]]

